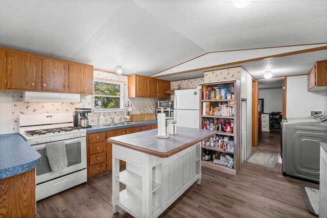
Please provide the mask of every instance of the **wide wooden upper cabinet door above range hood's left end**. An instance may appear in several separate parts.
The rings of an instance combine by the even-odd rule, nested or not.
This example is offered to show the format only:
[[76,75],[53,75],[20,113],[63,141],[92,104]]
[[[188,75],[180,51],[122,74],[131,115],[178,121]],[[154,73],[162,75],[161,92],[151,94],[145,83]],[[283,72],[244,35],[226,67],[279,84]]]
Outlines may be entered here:
[[8,52],[7,80],[8,89],[35,90],[35,57]]

